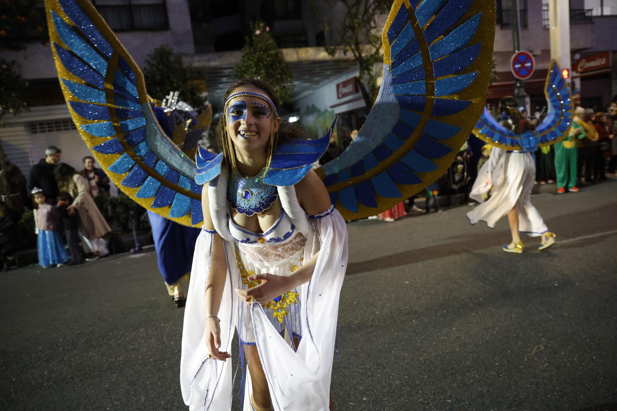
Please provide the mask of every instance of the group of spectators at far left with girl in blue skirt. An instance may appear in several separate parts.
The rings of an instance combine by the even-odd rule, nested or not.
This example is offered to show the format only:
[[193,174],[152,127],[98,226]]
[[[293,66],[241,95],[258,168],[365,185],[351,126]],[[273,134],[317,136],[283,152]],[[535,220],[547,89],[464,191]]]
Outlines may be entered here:
[[[3,271],[14,265],[15,252],[31,245],[20,226],[37,234],[39,264],[43,267],[82,264],[84,260],[109,254],[102,237],[111,228],[94,197],[109,196],[110,181],[100,168],[94,167],[93,157],[84,157],[84,168],[77,172],[60,161],[62,151],[58,147],[49,146],[45,157],[30,168],[25,178],[19,167],[11,164],[4,154],[1,156],[0,268]],[[70,259],[63,257],[62,252],[52,253],[51,257],[44,252],[56,246],[57,241],[62,244],[62,252],[64,244],[68,245]]]

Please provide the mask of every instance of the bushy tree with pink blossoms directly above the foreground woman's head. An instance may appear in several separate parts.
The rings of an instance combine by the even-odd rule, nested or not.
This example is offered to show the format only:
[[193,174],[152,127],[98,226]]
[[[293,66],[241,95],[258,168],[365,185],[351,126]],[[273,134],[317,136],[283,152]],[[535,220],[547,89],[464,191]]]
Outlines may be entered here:
[[268,81],[278,94],[281,104],[291,103],[294,90],[291,66],[285,61],[283,51],[270,35],[270,28],[263,22],[251,23],[251,36],[246,37],[242,58],[233,69],[234,77],[257,78]]

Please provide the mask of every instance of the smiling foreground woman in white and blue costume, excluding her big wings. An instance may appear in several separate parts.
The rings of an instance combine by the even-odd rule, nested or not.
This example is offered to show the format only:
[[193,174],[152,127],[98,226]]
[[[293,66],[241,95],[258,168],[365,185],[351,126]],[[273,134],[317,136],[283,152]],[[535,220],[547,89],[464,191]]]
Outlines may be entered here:
[[191,409],[230,407],[234,328],[249,371],[244,410],[329,407],[347,231],[311,160],[281,170],[285,153],[313,146],[289,141],[278,106],[267,83],[238,81],[219,124],[223,152],[197,155],[204,226],[191,283],[201,285],[189,288],[181,359]]

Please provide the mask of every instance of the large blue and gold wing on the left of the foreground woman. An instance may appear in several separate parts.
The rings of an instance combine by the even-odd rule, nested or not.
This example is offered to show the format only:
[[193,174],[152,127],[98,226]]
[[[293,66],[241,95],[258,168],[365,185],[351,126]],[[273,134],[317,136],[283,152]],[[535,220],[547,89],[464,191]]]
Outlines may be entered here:
[[45,0],[62,93],[81,137],[123,193],[146,209],[200,225],[195,164],[165,135],[135,61],[87,0]]

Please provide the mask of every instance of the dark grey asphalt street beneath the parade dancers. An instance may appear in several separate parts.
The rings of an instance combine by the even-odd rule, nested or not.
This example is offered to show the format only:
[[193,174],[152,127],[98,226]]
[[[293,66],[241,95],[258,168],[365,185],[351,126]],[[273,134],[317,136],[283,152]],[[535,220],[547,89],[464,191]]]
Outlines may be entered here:
[[[522,255],[470,205],[347,225],[336,410],[617,409],[617,180],[532,202],[557,244]],[[154,252],[1,278],[1,409],[186,409]]]

